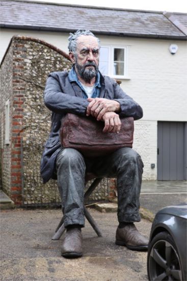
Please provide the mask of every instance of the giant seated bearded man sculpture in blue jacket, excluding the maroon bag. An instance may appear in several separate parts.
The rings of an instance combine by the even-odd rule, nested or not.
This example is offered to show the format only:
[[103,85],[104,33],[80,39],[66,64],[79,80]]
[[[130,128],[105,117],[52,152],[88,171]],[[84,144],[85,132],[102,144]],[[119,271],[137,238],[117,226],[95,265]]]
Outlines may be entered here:
[[92,32],[78,30],[68,39],[69,57],[73,63],[71,71],[50,73],[46,81],[44,102],[52,111],[52,126],[41,161],[44,183],[57,177],[63,202],[66,236],[61,254],[64,257],[83,254],[85,172],[97,177],[117,178],[119,225],[116,244],[131,250],[147,250],[148,240],[134,224],[140,221],[143,173],[140,155],[124,147],[107,156],[86,158],[75,149],[63,148],[59,137],[61,120],[67,112],[92,115],[103,122],[103,132],[113,133],[120,131],[120,116],[138,120],[143,116],[142,108],[114,79],[98,71],[100,41]]

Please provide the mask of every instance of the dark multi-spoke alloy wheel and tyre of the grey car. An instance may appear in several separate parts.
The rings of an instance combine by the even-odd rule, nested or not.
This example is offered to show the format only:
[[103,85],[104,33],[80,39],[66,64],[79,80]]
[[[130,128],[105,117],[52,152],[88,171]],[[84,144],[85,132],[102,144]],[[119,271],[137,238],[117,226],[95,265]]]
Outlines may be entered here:
[[182,280],[180,259],[168,232],[158,233],[150,242],[147,273],[149,280]]

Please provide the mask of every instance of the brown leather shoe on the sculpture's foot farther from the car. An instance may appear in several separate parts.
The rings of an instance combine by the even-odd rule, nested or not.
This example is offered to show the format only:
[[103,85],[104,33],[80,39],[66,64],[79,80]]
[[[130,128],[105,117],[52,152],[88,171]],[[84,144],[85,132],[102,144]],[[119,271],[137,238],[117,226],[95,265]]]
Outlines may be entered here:
[[64,257],[79,257],[83,255],[82,233],[79,228],[69,228],[61,248],[61,255]]

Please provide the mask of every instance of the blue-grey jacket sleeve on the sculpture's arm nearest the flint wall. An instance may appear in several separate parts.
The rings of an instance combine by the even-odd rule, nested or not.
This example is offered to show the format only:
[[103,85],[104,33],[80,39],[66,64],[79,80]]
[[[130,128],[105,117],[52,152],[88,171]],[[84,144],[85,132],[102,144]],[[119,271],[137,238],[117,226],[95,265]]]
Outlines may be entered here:
[[48,76],[44,90],[44,103],[49,110],[55,113],[70,112],[79,115],[86,114],[89,104],[84,98],[62,92],[59,77],[56,73],[50,73]]

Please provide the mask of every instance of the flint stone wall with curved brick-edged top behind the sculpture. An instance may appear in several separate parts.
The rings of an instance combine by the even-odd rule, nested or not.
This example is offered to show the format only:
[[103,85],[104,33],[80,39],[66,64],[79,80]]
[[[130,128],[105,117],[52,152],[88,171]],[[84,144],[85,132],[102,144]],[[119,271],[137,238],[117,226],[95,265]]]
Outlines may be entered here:
[[[70,68],[66,53],[31,37],[14,36],[4,57],[1,67],[2,81],[5,81],[3,93],[12,97],[13,107],[11,143],[9,146],[2,144],[7,165],[2,177],[3,188],[17,204],[60,203],[57,182],[50,180],[43,184],[40,177],[41,154],[51,127],[51,112],[44,105],[43,90],[50,72],[69,71]],[[7,99],[4,96],[3,99]],[[15,149],[16,157],[10,160]],[[114,195],[110,186],[111,183],[104,179],[91,199]]]

